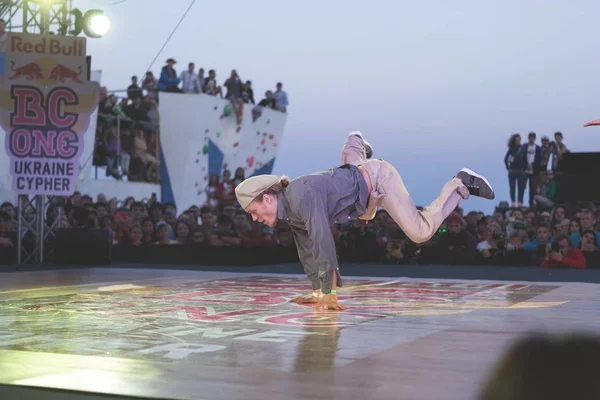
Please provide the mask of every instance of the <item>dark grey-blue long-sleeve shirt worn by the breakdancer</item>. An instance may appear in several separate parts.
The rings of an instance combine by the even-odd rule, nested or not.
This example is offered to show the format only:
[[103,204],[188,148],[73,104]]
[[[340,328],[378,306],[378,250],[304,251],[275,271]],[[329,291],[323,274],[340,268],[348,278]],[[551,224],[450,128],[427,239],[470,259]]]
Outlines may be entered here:
[[314,290],[331,290],[333,271],[342,286],[331,225],[356,220],[367,209],[369,189],[351,164],[298,177],[278,195],[277,217],[292,229],[298,257]]

